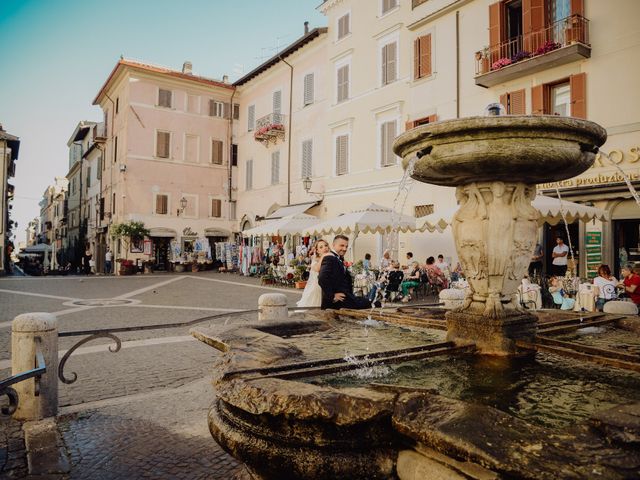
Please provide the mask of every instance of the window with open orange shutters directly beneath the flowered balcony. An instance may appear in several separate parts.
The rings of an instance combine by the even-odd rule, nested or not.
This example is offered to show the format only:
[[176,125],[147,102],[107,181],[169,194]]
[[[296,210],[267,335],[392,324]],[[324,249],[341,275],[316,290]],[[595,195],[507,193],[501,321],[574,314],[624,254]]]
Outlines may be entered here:
[[587,75],[579,73],[554,83],[531,89],[531,112],[534,115],[565,115],[587,118]]

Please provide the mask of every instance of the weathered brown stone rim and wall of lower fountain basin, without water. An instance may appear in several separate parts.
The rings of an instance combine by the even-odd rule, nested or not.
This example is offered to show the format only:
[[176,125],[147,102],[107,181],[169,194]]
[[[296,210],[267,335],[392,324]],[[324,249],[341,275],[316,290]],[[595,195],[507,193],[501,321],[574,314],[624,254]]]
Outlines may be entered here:
[[[192,330],[196,338],[224,352],[213,369],[211,433],[255,478],[417,480],[425,478],[424,472],[431,476],[436,471],[444,479],[589,478],[594,471],[598,478],[632,478],[640,472],[640,403],[610,408],[616,405],[612,398],[603,404],[604,411],[592,412],[585,420],[549,427],[476,402],[478,392],[452,398],[411,381],[383,384],[378,376],[344,385],[318,381],[314,362],[319,359],[312,352],[309,362],[305,353],[310,352],[307,343],[315,343],[313,335],[330,338],[339,327],[359,338],[368,328],[335,315]],[[340,335],[344,337],[344,331]],[[416,360],[423,362],[420,376],[437,376],[425,360],[431,357],[421,358]],[[449,363],[446,357],[435,358],[441,365]],[[465,358],[480,359],[483,369],[493,368],[493,361],[524,361]],[[465,361],[461,358],[458,365]],[[332,365],[336,371],[327,374]],[[339,367],[324,363],[324,378],[339,380]],[[492,387],[515,384],[509,388],[518,390],[520,368],[496,374]],[[470,375],[473,380],[475,375]],[[640,384],[640,375],[636,377]]]

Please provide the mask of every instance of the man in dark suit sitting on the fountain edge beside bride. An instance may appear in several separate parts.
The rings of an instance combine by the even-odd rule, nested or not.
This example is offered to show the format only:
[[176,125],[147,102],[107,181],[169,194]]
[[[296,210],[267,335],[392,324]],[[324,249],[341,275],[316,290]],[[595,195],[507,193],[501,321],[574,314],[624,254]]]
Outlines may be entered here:
[[333,239],[331,253],[322,258],[318,283],[322,288],[323,310],[327,308],[371,308],[366,298],[353,294],[351,274],[344,266],[344,254],[349,247],[349,239],[344,235],[336,235]]

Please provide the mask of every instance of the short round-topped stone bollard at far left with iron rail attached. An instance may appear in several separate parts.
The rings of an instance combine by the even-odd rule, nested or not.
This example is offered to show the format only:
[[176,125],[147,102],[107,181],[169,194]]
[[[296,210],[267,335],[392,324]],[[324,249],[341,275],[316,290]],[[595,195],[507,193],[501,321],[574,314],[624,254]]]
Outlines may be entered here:
[[58,414],[58,321],[55,315],[44,312],[24,313],[11,323],[11,374],[36,367],[36,338],[47,371],[40,377],[39,395],[36,379],[30,378],[13,385],[18,393],[17,420],[40,420]]

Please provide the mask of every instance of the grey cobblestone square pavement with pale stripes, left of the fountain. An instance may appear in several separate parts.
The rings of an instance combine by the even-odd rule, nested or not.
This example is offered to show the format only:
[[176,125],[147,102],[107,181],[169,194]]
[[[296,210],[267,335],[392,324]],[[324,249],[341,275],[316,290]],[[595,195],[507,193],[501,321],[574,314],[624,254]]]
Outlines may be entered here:
[[[248,322],[263,293],[282,291],[290,305],[300,291],[261,287],[237,275],[198,273],[136,277],[20,277],[0,279],[0,378],[11,375],[11,320],[20,313],[56,314],[59,331],[187,322]],[[74,301],[119,299],[125,306],[87,307]],[[208,378],[217,352],[189,336],[190,327],[126,332],[122,349],[107,340],[77,350],[65,368],[76,383],[60,383],[58,428],[69,455],[68,475],[51,478],[243,477],[209,434],[213,398]],[[61,352],[82,336],[60,338]],[[4,399],[2,399],[4,400]],[[27,475],[20,423],[0,423],[0,478]],[[41,477],[33,477],[41,478]]]

